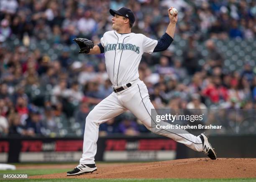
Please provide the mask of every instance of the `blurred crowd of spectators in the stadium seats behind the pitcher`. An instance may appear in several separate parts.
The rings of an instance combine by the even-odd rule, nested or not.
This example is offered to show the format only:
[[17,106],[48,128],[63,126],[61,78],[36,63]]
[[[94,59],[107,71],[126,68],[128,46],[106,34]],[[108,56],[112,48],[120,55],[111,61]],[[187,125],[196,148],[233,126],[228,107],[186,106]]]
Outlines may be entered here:
[[[156,108],[256,109],[256,1],[1,0],[0,136],[83,135],[113,90],[104,54],[78,55],[72,39],[96,45],[112,30],[109,9],[122,6],[136,15],[132,31],[153,39],[169,24],[168,7],[179,11],[172,45],[139,67]],[[125,113],[100,125],[100,135],[113,132],[148,131]]]

